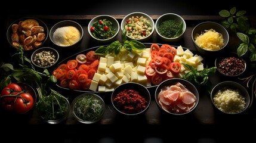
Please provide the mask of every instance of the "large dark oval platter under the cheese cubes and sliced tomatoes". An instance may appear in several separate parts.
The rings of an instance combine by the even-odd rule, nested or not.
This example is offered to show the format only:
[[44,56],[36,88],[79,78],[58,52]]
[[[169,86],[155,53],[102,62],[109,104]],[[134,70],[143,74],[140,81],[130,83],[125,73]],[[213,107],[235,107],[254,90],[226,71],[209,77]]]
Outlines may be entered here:
[[[152,43],[144,43],[144,45],[146,45],[147,48],[150,48],[150,46],[152,45]],[[158,43],[159,46],[163,45],[161,43]],[[108,45],[103,45],[103,46],[108,46]],[[171,46],[174,46],[174,45],[171,45]],[[71,55],[70,57],[67,57],[66,59],[64,59],[63,61],[60,61],[60,63],[57,64],[56,66],[56,69],[58,66],[60,66],[61,64],[64,64],[64,63],[67,63],[68,60],[75,60],[76,59],[76,55],[78,54],[87,54],[87,52],[89,51],[95,51],[97,48],[99,48],[100,46],[95,46],[93,48],[88,48],[88,49],[85,49],[84,51],[81,51],[81,52],[78,52],[76,54],[73,54]],[[174,46],[176,49],[178,48],[178,46]],[[183,51],[186,51],[187,49],[189,48],[183,48]],[[189,49],[189,51],[191,51],[194,55],[199,55],[198,52],[196,52],[195,50],[192,50],[192,49]],[[203,61],[202,61],[203,63]],[[203,67],[207,67],[207,65],[205,63],[203,63]],[[62,86],[60,86],[60,80],[58,80],[58,82],[56,83],[57,87],[58,88],[61,88],[61,89],[65,89],[65,90],[68,90],[68,91],[77,91],[77,92],[88,92],[88,93],[95,93],[95,94],[98,94],[98,95],[101,95],[101,94],[111,94],[113,91],[106,91],[106,92],[98,92],[98,91],[92,91],[92,90],[81,90],[81,89],[70,89],[70,88],[64,88]],[[149,90],[154,90],[158,85],[150,85],[150,86],[147,86],[147,88]]]

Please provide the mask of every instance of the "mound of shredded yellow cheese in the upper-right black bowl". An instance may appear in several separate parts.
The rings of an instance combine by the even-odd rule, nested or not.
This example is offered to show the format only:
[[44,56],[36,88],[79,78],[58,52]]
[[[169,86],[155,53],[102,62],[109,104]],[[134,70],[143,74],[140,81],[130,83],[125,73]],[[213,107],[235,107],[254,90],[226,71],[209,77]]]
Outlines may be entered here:
[[224,46],[223,35],[214,29],[205,30],[205,33],[196,35],[195,42],[201,48],[211,51],[221,49]]

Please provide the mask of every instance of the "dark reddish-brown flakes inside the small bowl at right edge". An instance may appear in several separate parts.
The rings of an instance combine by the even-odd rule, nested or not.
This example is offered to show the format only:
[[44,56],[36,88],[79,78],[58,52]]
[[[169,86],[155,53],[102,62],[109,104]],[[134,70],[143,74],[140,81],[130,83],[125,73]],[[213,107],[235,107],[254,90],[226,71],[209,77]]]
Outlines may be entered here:
[[235,76],[245,69],[243,61],[236,57],[227,57],[219,61],[217,65],[218,70],[227,76]]

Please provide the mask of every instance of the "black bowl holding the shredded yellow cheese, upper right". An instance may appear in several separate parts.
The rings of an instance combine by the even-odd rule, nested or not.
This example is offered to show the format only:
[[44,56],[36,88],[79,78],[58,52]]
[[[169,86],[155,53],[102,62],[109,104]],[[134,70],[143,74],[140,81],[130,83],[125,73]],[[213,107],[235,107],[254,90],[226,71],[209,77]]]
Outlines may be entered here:
[[[196,43],[196,37],[198,35],[201,35],[202,33],[205,33],[205,30],[213,29],[215,32],[220,33],[223,36],[223,46],[221,46],[220,49],[206,49],[201,48],[201,46]],[[217,57],[220,54],[223,54],[224,51],[227,49],[227,44],[229,43],[229,33],[225,29],[225,27],[221,26],[221,24],[212,22],[212,21],[205,21],[202,23],[199,23],[197,26],[194,27],[192,30],[192,41],[195,45],[196,50],[201,54],[205,55],[206,57]],[[205,41],[206,42],[206,41]],[[208,42],[216,43],[215,40],[210,40]]]

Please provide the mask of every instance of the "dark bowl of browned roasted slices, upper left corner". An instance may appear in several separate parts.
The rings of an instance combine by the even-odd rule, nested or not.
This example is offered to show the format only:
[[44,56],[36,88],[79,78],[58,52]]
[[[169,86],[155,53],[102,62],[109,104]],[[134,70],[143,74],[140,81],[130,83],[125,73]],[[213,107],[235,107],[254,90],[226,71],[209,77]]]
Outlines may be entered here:
[[7,41],[14,48],[22,46],[24,51],[41,48],[48,38],[48,27],[44,21],[34,17],[20,18],[7,29]]

